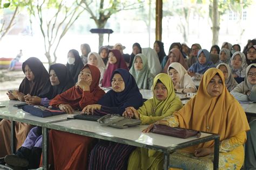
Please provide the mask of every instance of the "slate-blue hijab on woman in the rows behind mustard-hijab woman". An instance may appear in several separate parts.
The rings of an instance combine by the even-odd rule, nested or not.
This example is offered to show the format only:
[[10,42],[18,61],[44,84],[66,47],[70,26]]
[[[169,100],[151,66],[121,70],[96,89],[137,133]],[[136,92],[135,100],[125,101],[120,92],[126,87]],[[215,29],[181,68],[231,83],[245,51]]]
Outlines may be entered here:
[[[201,65],[198,61],[199,55],[202,52],[205,54],[206,57],[206,63],[204,63],[203,65]],[[197,53],[197,62],[193,63],[193,65],[188,70],[192,71],[193,73],[204,74],[207,69],[215,67],[216,66],[211,61],[210,53],[207,51],[207,49],[200,49]]]

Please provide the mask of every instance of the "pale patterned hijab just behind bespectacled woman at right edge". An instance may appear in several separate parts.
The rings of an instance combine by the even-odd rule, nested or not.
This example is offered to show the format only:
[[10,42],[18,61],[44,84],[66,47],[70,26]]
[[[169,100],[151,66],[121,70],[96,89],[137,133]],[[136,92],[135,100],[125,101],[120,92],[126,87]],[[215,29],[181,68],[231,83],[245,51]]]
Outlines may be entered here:
[[[235,55],[240,55],[241,57],[241,60],[242,60],[242,65],[240,68],[238,69],[235,69],[231,66],[231,62],[232,60],[234,59]],[[246,77],[246,67],[247,67],[247,63],[246,63],[246,57],[245,57],[245,54],[244,53],[241,53],[239,51],[235,52],[233,55],[232,55],[232,58],[230,59],[230,62],[228,63],[228,65],[230,66],[231,68],[231,72],[232,74],[237,74],[239,77]]]

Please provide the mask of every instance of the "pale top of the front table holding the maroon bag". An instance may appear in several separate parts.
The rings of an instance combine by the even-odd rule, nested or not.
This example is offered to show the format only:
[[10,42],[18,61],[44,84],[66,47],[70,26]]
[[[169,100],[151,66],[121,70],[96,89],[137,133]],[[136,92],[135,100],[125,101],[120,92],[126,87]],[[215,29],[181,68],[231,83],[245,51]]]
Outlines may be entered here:
[[202,133],[200,138],[190,137],[181,139],[156,133],[142,133],[142,130],[147,128],[147,126],[148,125],[138,125],[127,129],[117,129],[109,126],[102,126],[93,121],[73,119],[65,122],[48,124],[47,128],[115,141],[137,147],[153,148],[154,150],[157,149],[162,152],[182,148],[186,145],[191,146],[191,143],[198,143],[199,140],[213,140],[213,137],[218,136],[210,133]]

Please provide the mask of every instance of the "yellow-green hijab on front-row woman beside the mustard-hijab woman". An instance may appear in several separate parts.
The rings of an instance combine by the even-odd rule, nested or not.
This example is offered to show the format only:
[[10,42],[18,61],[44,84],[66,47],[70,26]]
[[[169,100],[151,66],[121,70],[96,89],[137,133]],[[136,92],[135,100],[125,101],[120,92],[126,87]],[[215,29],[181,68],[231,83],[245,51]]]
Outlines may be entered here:
[[[157,100],[156,96],[153,95],[152,98],[144,102],[143,107],[140,107],[138,109],[139,114],[146,115],[146,116],[163,116],[160,119],[170,116],[174,111],[176,111],[176,108],[173,108],[172,106],[174,104],[178,104],[180,108],[183,106],[178,96],[176,96],[174,92],[173,83],[170,79],[170,77],[165,73],[160,73],[154,77],[153,81],[153,89],[156,87],[157,81],[160,80],[164,86],[166,87],[168,91],[168,96],[164,101]],[[145,107],[144,107],[145,106]],[[174,110],[176,109],[176,110]]]

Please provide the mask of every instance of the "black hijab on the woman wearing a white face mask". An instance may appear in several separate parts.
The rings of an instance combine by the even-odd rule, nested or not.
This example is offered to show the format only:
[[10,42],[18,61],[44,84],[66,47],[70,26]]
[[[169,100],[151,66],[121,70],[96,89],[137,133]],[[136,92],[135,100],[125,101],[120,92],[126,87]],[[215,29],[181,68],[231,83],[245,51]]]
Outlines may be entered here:
[[66,63],[66,68],[69,69],[74,82],[77,83],[78,75],[80,74],[80,70],[84,67],[84,64],[76,49],[71,49],[69,52],[73,53],[73,55],[75,56],[75,63],[73,63],[72,65]]

